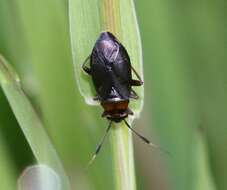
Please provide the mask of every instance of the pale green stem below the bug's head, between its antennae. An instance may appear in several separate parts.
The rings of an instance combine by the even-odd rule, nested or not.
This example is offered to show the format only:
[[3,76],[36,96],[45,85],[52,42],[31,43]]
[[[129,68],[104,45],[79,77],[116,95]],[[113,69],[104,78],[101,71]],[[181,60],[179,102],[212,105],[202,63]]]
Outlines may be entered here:
[[124,123],[115,124],[111,131],[116,189],[135,190],[135,170],[132,134]]

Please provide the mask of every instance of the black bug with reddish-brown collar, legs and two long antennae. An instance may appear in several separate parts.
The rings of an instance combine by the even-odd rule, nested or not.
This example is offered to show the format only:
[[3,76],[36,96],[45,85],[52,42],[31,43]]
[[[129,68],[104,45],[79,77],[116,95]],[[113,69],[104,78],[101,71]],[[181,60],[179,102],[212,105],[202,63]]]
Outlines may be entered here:
[[[87,63],[90,63],[90,66],[86,66]],[[140,139],[147,144],[151,144],[147,138],[132,129],[125,120],[128,115],[133,115],[128,107],[130,99],[139,98],[132,86],[141,86],[143,81],[132,67],[129,55],[118,39],[110,32],[102,32],[94,45],[91,55],[84,61],[82,68],[92,78],[97,93],[94,100],[99,101],[104,109],[102,117],[110,120],[109,126],[90,163],[100,152],[112,122],[124,121],[126,126]],[[132,78],[132,72],[137,79]]]

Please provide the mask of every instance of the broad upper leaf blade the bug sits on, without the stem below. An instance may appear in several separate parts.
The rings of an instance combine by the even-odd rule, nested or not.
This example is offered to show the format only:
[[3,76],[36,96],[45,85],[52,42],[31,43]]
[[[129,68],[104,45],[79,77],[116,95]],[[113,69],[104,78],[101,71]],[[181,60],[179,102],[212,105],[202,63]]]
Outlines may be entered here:
[[[117,36],[126,47],[132,66],[143,78],[141,41],[132,0],[69,0],[69,18],[76,81],[88,104],[97,105],[92,99],[95,92],[90,77],[85,75],[81,66],[101,31],[108,30]],[[139,116],[144,90],[139,87],[136,91],[140,100],[132,101],[130,107],[135,116]]]

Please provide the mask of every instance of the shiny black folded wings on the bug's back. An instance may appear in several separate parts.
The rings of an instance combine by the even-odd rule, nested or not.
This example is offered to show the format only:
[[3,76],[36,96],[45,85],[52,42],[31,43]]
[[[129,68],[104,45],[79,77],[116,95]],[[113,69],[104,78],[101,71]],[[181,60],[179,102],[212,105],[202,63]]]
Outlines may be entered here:
[[91,75],[101,100],[129,99],[131,66],[125,48],[116,41],[97,41],[91,57]]

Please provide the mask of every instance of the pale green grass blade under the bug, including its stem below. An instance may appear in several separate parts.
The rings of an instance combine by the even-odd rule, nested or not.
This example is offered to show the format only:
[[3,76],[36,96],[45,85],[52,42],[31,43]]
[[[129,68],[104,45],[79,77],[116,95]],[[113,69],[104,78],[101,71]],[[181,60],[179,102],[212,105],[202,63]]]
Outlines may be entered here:
[[[128,50],[133,67],[143,78],[141,42],[132,0],[69,0],[69,18],[76,81],[88,104],[95,105],[92,100],[95,92],[81,65],[91,53],[97,37],[103,30],[114,33],[122,42]],[[140,100],[130,103],[134,117],[139,116],[143,107],[143,87],[136,89],[136,92]],[[134,117],[130,118],[130,123]],[[113,127],[111,144],[116,189],[136,189],[132,137],[124,124]]]

